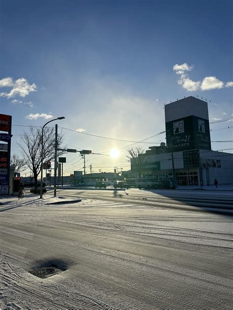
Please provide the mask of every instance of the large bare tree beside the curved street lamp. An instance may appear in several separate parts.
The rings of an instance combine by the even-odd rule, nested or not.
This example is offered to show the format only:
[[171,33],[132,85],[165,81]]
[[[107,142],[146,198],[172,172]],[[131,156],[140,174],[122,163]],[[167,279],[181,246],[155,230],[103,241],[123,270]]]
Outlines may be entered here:
[[[41,172],[41,134],[41,128],[29,127],[28,132],[24,131],[23,136],[21,137],[21,143],[18,143],[27,166],[33,173],[35,188],[37,188],[37,177]],[[63,137],[58,135],[58,145],[62,140]],[[43,163],[54,160],[54,150],[55,129],[45,127],[43,133]]]

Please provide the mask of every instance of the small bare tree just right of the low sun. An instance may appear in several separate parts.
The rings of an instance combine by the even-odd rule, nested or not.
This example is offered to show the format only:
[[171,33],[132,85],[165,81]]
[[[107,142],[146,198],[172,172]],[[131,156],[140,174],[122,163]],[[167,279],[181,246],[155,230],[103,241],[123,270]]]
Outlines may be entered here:
[[128,155],[126,157],[131,163],[131,170],[137,172],[139,177],[141,177],[144,164],[146,163],[144,150],[139,146],[135,146],[127,149],[127,152]]

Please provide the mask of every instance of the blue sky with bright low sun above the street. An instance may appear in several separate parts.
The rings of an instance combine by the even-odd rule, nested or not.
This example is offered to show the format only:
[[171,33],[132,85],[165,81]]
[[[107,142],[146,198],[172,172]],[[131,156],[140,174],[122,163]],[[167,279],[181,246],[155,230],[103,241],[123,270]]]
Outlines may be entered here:
[[[165,129],[164,104],[190,95],[211,100],[210,121],[232,117],[232,12],[230,0],[1,0],[0,113],[32,126],[65,116],[64,146],[120,148],[119,158],[90,155],[87,166],[129,169],[130,142],[60,127],[140,141]],[[232,124],[211,125],[211,140],[232,140]],[[12,153],[23,130],[12,127]],[[83,167],[78,153],[66,157],[66,174]]]

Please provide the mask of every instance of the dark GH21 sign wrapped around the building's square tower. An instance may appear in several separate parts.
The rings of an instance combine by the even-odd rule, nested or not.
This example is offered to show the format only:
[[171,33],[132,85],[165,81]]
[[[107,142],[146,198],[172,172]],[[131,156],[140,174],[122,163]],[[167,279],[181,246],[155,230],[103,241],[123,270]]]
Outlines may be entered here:
[[166,122],[166,139],[170,152],[211,150],[209,121],[191,115]]

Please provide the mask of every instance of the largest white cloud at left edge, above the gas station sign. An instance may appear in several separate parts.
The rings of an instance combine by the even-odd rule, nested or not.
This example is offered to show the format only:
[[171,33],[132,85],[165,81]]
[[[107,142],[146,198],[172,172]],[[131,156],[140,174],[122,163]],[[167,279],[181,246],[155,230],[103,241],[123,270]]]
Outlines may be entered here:
[[12,87],[10,92],[1,92],[1,97],[12,98],[17,96],[25,97],[29,95],[30,92],[36,91],[36,85],[33,83],[32,85],[25,78],[20,78],[13,81],[12,78],[4,78],[0,80],[0,87]]

